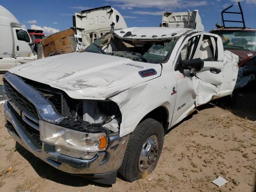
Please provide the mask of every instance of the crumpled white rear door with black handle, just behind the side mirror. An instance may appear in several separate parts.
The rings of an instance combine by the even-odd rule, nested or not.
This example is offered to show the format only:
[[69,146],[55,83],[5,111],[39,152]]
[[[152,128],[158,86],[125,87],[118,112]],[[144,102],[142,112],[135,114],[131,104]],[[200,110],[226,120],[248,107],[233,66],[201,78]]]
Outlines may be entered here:
[[223,83],[224,50],[221,38],[215,34],[203,33],[194,58],[204,61],[199,72],[191,73],[196,88],[196,106],[205,104],[218,97]]

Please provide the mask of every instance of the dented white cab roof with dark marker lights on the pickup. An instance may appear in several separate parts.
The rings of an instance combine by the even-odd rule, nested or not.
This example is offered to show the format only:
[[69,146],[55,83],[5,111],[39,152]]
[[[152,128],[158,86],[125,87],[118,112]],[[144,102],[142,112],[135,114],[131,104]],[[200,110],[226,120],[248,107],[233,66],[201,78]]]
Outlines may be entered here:
[[171,27],[132,27],[115,30],[114,33],[121,38],[128,39],[163,39],[180,36],[189,31],[196,30]]

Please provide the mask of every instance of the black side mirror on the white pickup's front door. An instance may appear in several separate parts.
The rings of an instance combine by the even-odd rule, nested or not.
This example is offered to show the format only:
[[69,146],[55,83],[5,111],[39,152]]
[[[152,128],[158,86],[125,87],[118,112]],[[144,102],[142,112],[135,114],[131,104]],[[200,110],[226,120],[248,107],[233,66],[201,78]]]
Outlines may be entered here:
[[204,61],[200,58],[190,59],[190,60],[180,60],[175,66],[175,71],[178,70],[191,70],[193,72],[198,72],[204,67]]

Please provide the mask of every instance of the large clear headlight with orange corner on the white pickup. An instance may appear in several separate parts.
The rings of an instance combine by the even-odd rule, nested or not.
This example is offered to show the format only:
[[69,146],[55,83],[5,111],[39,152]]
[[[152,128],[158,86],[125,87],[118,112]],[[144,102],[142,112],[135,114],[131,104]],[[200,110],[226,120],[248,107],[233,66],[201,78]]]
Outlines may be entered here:
[[[55,146],[58,153],[90,159],[96,152],[106,149],[108,138],[105,133],[86,133],[71,130],[40,120],[40,139]],[[94,154],[93,154],[94,153]]]

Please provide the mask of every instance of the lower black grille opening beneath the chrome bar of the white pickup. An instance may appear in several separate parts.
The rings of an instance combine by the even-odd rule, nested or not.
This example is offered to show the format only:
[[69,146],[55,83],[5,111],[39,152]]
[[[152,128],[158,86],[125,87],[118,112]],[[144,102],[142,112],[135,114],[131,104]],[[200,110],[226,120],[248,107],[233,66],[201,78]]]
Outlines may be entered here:
[[[34,146],[36,146],[36,148],[41,149],[42,141],[40,140],[40,132],[38,130],[36,130],[35,128],[33,128],[32,126],[26,124],[26,122],[23,121],[21,116],[18,115],[18,113],[12,108],[12,106],[9,103],[8,103],[8,108],[12,111],[12,114],[14,114],[14,116],[18,120],[17,123],[19,124],[20,129],[24,132],[24,134],[26,134],[26,136],[30,139],[32,144],[34,144]],[[38,127],[39,127],[39,125],[38,125]],[[17,134],[17,132],[16,132],[16,134]]]

